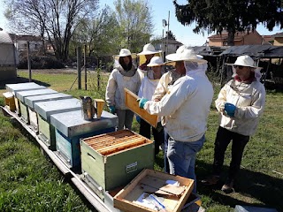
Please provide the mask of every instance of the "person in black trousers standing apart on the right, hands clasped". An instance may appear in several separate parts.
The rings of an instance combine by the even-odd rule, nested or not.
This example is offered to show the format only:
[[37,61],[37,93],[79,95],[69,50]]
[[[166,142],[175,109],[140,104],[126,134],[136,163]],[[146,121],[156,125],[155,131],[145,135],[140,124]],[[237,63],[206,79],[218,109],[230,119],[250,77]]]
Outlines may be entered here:
[[208,186],[218,184],[226,148],[232,140],[228,177],[221,188],[225,193],[234,191],[234,180],[240,170],[244,148],[249,137],[256,133],[265,105],[265,88],[260,82],[260,68],[254,60],[244,55],[229,65],[233,65],[233,79],[222,87],[215,101],[220,123],[214,147],[213,173],[202,180]]

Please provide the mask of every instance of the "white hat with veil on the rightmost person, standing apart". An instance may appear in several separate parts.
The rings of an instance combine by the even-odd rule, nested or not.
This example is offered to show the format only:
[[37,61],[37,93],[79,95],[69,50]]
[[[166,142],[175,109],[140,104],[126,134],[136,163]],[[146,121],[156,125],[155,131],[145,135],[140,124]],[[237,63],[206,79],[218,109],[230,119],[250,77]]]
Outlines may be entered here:
[[235,66],[250,67],[251,72],[255,72],[256,80],[259,81],[262,77],[262,74],[260,72],[262,67],[258,67],[255,64],[256,64],[255,61],[251,57],[249,57],[248,55],[243,55],[243,56],[237,57],[236,61],[233,64],[227,64],[227,65],[232,65],[232,67],[233,67],[233,76],[232,77],[234,77],[236,75],[236,70],[234,68]]

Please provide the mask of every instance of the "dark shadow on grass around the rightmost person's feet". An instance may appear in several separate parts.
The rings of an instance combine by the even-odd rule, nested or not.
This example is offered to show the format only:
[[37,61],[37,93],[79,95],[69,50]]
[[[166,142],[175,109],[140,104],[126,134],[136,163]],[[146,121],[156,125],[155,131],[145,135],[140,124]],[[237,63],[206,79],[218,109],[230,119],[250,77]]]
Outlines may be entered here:
[[[225,183],[228,167],[225,166],[223,176],[215,186],[204,186],[201,180],[212,170],[212,164],[196,162],[197,190],[201,195],[209,196],[213,201],[234,208],[235,205],[276,208],[283,211],[283,178],[273,178],[264,173],[241,169],[234,182],[235,193],[226,194],[221,190]],[[252,203],[260,201],[263,203]]]

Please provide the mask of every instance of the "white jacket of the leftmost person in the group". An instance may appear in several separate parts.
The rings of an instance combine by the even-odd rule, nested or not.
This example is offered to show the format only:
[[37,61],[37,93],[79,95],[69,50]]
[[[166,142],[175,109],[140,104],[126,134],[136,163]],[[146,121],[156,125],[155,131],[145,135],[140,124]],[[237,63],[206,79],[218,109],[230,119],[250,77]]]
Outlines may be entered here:
[[125,72],[122,66],[119,65],[111,72],[105,93],[105,100],[108,106],[113,105],[116,109],[127,110],[125,105],[125,87],[135,95],[138,94],[141,87],[141,78],[134,66],[132,70]]

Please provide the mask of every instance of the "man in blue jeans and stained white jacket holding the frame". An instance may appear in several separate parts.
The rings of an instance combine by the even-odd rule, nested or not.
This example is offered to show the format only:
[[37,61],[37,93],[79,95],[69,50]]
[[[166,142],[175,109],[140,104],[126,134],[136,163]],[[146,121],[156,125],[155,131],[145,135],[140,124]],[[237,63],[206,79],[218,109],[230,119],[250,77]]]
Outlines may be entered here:
[[[142,98],[139,106],[150,114],[166,116],[170,173],[195,179],[195,155],[203,147],[213,96],[205,74],[207,61],[188,48],[178,49],[166,58],[175,67],[185,68],[186,76],[178,79],[159,102]],[[196,193],[196,183],[193,192]]]

